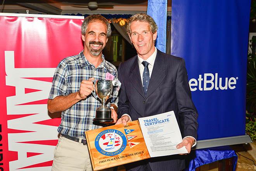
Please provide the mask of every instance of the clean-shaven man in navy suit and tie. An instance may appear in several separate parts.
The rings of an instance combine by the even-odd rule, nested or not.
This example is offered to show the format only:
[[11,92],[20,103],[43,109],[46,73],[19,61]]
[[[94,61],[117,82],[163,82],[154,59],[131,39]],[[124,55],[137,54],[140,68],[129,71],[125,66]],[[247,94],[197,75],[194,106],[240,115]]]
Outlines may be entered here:
[[[133,15],[128,35],[137,50],[135,57],[119,65],[118,121],[116,124],[174,111],[188,152],[197,138],[197,110],[192,102],[185,62],[165,54],[154,46],[157,25],[147,14]],[[181,171],[184,155],[153,157],[126,164],[126,171]]]

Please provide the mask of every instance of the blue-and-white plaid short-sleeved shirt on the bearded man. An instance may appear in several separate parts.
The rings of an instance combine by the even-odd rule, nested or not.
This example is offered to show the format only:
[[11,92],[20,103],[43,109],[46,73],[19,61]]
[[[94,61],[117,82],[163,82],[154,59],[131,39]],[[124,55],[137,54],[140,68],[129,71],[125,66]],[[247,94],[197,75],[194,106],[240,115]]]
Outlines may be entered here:
[[[117,79],[116,67],[107,62],[104,55],[102,55],[102,63],[97,68],[88,62],[83,51],[78,55],[67,57],[61,60],[55,70],[48,98],[54,99],[57,96],[66,96],[78,92],[82,80],[88,80],[91,77],[95,80],[105,79],[107,72]],[[113,94],[116,90],[117,88],[114,88]],[[107,106],[110,104],[117,106],[118,93],[115,94],[107,101]],[[80,100],[66,111],[62,111],[58,132],[64,135],[85,138],[85,131],[101,128],[101,125],[95,125],[92,121],[95,117],[95,110],[100,105],[100,100],[91,94],[85,100]]]

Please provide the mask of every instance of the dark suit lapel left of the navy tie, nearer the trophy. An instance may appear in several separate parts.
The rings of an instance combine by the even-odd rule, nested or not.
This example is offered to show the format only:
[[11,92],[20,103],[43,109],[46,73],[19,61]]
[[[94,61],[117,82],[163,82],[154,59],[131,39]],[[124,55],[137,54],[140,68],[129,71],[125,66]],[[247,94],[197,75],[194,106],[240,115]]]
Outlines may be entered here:
[[135,61],[133,63],[133,66],[131,67],[130,71],[130,81],[133,84],[134,88],[145,98],[144,90],[142,87],[142,82],[140,78],[140,69],[138,67],[138,58],[135,58]]

